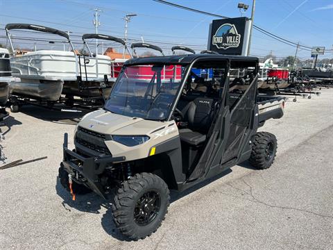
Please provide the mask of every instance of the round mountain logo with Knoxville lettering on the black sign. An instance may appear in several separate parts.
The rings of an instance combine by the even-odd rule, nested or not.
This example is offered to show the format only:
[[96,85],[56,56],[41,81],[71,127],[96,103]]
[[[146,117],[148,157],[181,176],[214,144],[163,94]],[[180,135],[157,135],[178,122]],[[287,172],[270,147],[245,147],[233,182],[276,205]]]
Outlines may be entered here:
[[218,49],[237,48],[241,42],[241,35],[237,32],[234,24],[221,25],[215,35],[213,35],[212,44]]

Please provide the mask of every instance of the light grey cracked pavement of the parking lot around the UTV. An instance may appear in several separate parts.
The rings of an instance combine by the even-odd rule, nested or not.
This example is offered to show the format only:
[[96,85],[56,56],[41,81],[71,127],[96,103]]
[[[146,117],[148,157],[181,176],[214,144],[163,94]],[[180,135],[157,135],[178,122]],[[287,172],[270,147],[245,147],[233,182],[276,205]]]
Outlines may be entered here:
[[261,128],[278,138],[270,169],[242,163],[173,193],[161,228],[137,242],[115,229],[110,203],[71,201],[58,181],[63,134],[72,148],[82,114],[24,107],[1,126],[6,162],[47,159],[0,170],[0,249],[333,249],[333,89],[321,92]]

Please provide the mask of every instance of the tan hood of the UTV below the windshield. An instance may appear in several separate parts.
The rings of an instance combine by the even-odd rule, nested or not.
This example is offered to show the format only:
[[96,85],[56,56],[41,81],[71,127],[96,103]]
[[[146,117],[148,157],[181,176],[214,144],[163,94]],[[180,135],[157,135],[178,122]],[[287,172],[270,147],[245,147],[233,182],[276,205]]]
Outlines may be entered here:
[[142,120],[142,118],[126,117],[101,109],[85,115],[78,126],[96,131],[97,133],[111,135],[114,131],[119,130],[119,128],[135,124]]

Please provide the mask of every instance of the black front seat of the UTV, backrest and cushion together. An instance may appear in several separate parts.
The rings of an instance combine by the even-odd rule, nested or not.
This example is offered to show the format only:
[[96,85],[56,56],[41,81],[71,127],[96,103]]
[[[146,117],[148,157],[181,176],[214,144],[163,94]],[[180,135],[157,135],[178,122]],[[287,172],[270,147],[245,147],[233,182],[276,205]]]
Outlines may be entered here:
[[179,131],[180,141],[190,146],[205,142],[213,118],[214,99],[199,97],[190,101],[182,110],[187,128]]

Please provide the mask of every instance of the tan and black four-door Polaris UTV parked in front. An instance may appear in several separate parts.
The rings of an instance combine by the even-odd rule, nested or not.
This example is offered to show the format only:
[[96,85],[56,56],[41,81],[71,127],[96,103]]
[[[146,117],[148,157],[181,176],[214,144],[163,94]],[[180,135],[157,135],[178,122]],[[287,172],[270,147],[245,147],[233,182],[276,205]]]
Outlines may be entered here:
[[91,190],[110,195],[117,228],[138,240],[161,225],[169,190],[245,160],[271,167],[277,140],[257,128],[282,117],[284,101],[258,95],[258,68],[254,57],[214,54],[128,60],[104,108],[76,127],[75,149],[65,134],[60,183],[73,199]]

